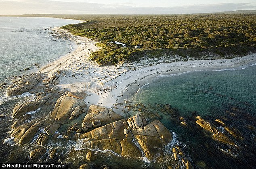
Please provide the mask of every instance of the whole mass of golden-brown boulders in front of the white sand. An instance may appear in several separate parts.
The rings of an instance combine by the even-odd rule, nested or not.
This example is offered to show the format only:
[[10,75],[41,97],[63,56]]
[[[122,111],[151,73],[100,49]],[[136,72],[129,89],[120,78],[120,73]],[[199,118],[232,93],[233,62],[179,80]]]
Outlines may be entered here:
[[[7,87],[8,96],[25,92],[36,96],[33,101],[13,108],[15,120],[10,134],[18,145],[34,144],[29,152],[31,160],[37,161],[45,154],[56,159],[61,152],[58,147],[52,147],[52,143],[60,139],[66,144],[79,140],[85,164],[97,159],[97,151],[108,150],[130,159],[161,161],[164,156],[171,156],[173,163],[179,165],[180,158],[180,165],[193,168],[178,145],[172,148],[171,154],[165,153],[172,134],[159,120],[145,120],[140,115],[126,118],[111,108],[87,104],[86,92],[70,92],[56,86],[60,74],[59,70],[50,77],[42,73],[15,77]],[[126,103],[128,101],[123,104]],[[67,158],[76,150],[71,152],[67,152]]]

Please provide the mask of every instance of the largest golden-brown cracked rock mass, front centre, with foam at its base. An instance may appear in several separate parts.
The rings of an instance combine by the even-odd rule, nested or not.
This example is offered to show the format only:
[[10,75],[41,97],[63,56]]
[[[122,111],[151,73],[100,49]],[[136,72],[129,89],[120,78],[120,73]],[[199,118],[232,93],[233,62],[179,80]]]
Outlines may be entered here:
[[[141,119],[141,117],[137,115],[132,119]],[[81,134],[80,138],[90,140],[89,148],[109,149],[122,156],[135,158],[145,154],[149,159],[163,155],[162,148],[172,139],[169,130],[158,120],[139,129],[132,128],[130,132],[124,134],[124,129],[128,127],[126,119],[122,119]],[[138,143],[139,147],[135,143]]]

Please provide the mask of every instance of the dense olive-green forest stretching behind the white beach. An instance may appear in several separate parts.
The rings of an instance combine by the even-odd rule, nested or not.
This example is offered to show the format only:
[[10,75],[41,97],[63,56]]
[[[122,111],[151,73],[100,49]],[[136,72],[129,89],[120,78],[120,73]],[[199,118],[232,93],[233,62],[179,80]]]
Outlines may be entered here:
[[[91,59],[100,64],[134,61],[145,55],[218,57],[256,51],[256,14],[77,15],[86,20],[62,26],[74,35],[99,41]],[[113,45],[118,41],[127,45]],[[134,49],[140,45],[140,49]]]

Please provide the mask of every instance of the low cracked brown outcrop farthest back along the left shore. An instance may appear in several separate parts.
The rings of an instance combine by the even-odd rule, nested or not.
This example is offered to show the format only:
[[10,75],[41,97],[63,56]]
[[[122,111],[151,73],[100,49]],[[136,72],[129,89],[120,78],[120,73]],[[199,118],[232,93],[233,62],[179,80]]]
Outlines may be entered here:
[[21,78],[13,79],[13,85],[7,88],[7,96],[18,96],[34,88],[38,82],[42,81],[44,77],[41,74],[25,75]]

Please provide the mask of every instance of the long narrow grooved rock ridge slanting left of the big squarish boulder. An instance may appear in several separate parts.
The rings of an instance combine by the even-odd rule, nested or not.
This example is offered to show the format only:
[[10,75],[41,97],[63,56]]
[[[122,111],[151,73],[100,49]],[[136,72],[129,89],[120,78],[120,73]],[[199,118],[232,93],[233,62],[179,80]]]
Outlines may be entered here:
[[19,118],[27,112],[31,112],[40,108],[43,104],[46,104],[48,99],[49,96],[46,96],[46,93],[38,93],[38,98],[35,101],[15,106],[15,108],[13,109],[13,118]]

